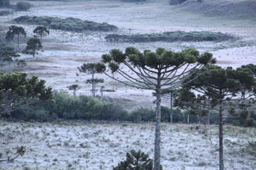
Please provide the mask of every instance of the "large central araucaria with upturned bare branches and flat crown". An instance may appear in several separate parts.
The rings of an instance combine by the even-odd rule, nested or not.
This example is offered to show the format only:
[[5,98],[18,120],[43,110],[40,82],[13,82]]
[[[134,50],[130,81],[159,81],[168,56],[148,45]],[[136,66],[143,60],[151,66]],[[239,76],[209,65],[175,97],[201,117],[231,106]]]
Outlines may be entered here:
[[[199,51],[192,48],[177,53],[164,48],[157,48],[156,51],[144,50],[141,53],[137,48],[128,47],[125,53],[118,49],[110,50],[110,53],[102,55],[102,62],[95,65],[98,73],[105,73],[112,79],[116,79],[113,73],[119,73],[125,78],[123,81],[116,79],[118,82],[155,91],[154,170],[160,170],[160,91],[178,87],[181,76],[215,62],[211,53],[199,55]],[[107,73],[107,67],[112,74]],[[135,74],[125,71],[125,67]]]

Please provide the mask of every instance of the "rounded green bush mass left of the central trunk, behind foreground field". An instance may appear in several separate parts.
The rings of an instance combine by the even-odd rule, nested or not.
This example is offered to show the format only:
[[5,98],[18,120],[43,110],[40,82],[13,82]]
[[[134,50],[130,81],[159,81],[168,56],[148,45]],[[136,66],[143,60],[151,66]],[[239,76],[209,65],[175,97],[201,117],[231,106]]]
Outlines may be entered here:
[[54,91],[49,102],[37,102],[29,107],[13,111],[10,116],[17,120],[38,122],[57,119],[128,120],[127,111],[116,102],[87,96],[72,97],[66,91]]

